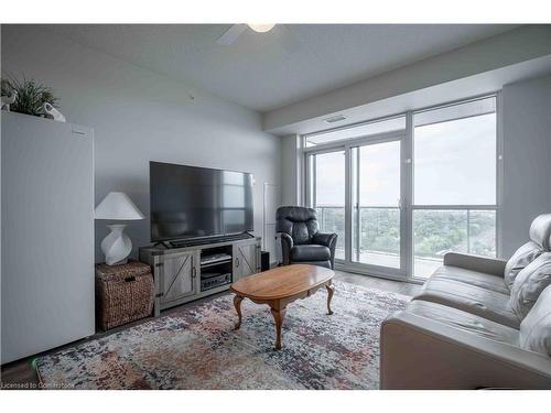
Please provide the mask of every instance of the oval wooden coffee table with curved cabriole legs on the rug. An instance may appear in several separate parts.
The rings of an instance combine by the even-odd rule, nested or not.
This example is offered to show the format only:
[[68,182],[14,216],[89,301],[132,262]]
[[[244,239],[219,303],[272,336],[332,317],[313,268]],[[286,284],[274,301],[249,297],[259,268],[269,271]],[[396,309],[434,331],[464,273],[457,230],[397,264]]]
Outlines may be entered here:
[[293,264],[278,267],[235,282],[229,287],[236,294],[234,305],[239,316],[235,329],[241,326],[241,301],[244,298],[249,298],[257,304],[268,304],[276,320],[276,348],[281,349],[281,325],[289,303],[309,297],[325,285],[328,293],[327,313],[333,314],[331,309],[331,298],[335,291],[335,286],[332,285],[333,276],[335,273],[323,267]]

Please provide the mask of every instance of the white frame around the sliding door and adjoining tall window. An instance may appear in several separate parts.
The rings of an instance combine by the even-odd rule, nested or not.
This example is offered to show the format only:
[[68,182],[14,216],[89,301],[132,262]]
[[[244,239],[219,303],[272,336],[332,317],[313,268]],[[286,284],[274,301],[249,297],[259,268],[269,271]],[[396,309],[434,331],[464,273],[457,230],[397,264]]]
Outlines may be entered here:
[[[446,106],[453,106],[457,104],[463,104],[469,100],[478,100],[495,96],[496,97],[496,205],[468,205],[468,206],[433,206],[433,205],[414,205],[413,204],[413,144],[414,144],[414,130],[413,130],[413,113],[430,109],[436,109]],[[335,268],[339,270],[350,271],[354,273],[380,276],[385,279],[408,281],[413,283],[422,284],[426,281],[424,278],[415,278],[414,275],[414,251],[413,251],[413,209],[456,209],[457,207],[467,207],[466,209],[477,210],[495,210],[496,211],[496,254],[501,257],[503,248],[503,224],[501,224],[501,205],[503,205],[503,180],[504,180],[504,134],[503,134],[503,100],[501,93],[499,90],[488,94],[483,94],[478,96],[472,96],[468,98],[457,99],[453,101],[447,101],[439,105],[432,105],[422,108],[415,108],[414,110],[409,110],[401,113],[390,115],[388,117],[377,118],[368,120],[365,122],[358,122],[355,124],[327,129],[323,131],[317,131],[315,133],[306,133],[300,135],[300,182],[299,186],[303,187],[300,192],[300,202],[302,205],[311,206],[311,187],[310,176],[309,176],[309,155],[314,153],[333,152],[336,150],[345,151],[345,260],[335,260]],[[305,140],[309,135],[314,135],[318,133],[326,133],[332,130],[339,130],[346,128],[354,128],[358,124],[365,124],[370,122],[377,122],[380,120],[392,119],[397,117],[406,117],[406,129],[400,131],[383,132],[378,134],[371,134],[367,137],[358,137],[345,141],[335,141],[329,143],[323,143],[315,146],[306,146]],[[393,271],[396,269],[377,267],[370,264],[364,264],[352,261],[352,184],[348,184],[352,177],[352,163],[350,163],[350,148],[361,145],[363,143],[377,143],[392,140],[401,140],[401,214],[400,214],[400,270]]]

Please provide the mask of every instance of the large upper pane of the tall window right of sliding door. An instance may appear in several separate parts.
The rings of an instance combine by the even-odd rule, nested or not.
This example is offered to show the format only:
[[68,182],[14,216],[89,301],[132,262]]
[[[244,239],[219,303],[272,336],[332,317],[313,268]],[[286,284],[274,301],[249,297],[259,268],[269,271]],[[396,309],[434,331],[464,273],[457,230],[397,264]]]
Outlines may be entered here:
[[[472,104],[465,104],[472,105]],[[417,205],[496,204],[496,113],[414,128]]]

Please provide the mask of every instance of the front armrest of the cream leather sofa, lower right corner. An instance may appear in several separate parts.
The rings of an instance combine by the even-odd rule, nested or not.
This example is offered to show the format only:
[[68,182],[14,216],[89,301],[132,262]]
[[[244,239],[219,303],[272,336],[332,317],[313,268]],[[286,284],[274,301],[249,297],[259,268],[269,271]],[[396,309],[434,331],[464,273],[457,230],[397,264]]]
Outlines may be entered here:
[[408,311],[381,325],[381,389],[550,389],[551,358]]

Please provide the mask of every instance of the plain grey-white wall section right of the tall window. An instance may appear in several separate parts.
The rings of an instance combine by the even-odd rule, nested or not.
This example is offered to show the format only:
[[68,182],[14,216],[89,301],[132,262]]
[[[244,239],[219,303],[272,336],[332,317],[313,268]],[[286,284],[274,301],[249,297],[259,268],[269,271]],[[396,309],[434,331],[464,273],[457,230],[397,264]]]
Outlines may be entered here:
[[503,89],[503,256],[528,240],[539,214],[551,213],[551,76]]

